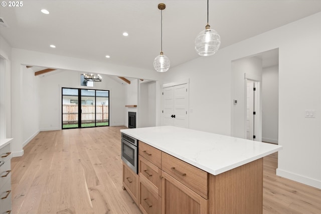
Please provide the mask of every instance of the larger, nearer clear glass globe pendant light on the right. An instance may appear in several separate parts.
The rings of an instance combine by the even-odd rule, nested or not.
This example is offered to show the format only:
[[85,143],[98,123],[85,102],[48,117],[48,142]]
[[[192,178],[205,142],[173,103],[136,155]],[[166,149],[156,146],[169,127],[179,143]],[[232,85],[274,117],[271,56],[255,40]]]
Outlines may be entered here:
[[207,0],[207,25],[205,30],[199,33],[195,39],[195,50],[200,56],[215,54],[221,45],[220,35],[209,25],[209,0]]

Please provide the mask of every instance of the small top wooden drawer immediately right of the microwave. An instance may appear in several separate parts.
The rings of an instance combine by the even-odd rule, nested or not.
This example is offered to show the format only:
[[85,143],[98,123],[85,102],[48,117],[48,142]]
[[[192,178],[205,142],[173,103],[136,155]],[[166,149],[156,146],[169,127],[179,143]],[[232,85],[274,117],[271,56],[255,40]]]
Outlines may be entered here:
[[152,164],[161,168],[162,152],[152,146],[141,141],[138,144],[138,154],[150,161]]

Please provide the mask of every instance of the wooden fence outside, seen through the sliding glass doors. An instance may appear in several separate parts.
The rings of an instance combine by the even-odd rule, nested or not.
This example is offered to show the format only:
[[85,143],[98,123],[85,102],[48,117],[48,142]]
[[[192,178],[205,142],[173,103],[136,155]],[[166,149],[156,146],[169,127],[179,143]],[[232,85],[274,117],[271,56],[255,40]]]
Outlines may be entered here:
[[[95,122],[95,105],[81,105],[81,122]],[[108,105],[96,105],[96,122],[108,122],[109,112]],[[63,124],[78,123],[78,105],[62,105],[62,122]]]

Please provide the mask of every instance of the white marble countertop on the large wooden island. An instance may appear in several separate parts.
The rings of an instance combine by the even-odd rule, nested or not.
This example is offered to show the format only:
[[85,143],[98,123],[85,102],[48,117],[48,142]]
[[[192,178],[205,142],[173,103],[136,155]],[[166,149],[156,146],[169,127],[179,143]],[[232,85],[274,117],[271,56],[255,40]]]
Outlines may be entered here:
[[173,126],[122,129],[120,132],[213,175],[282,149],[274,144]]

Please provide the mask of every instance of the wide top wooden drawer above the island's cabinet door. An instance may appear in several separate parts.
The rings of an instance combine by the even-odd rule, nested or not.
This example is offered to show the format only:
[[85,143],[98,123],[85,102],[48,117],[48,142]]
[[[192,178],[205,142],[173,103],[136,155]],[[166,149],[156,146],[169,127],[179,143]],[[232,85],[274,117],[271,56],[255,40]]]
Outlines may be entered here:
[[162,170],[208,199],[209,174],[172,155],[162,152]]

